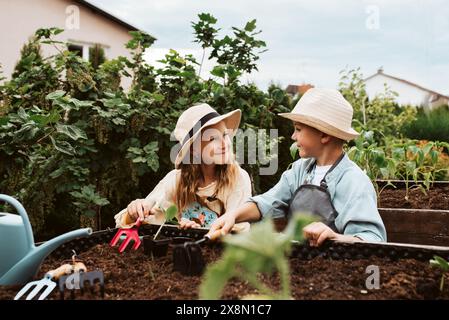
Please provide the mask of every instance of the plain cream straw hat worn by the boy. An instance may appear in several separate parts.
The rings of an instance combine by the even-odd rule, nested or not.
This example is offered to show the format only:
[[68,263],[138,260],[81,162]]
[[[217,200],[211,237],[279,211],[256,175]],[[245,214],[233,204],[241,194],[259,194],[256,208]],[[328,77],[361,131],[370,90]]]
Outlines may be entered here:
[[348,141],[359,135],[351,127],[352,113],[351,104],[338,90],[311,88],[292,112],[279,115]]

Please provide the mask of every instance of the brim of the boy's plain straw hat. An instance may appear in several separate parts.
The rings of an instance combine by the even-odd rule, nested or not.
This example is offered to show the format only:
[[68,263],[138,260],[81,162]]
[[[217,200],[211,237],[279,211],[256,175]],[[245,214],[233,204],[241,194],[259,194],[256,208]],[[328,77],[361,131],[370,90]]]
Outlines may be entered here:
[[324,121],[322,121],[318,118],[308,116],[308,115],[302,115],[302,114],[296,114],[296,113],[279,113],[278,115],[283,118],[292,120],[292,121],[303,123],[312,128],[315,128],[321,132],[327,133],[333,137],[337,137],[337,138],[345,140],[345,141],[355,139],[360,135],[360,133],[355,131],[353,128],[349,128],[347,130],[342,130],[342,129],[336,128],[328,123],[325,123]]

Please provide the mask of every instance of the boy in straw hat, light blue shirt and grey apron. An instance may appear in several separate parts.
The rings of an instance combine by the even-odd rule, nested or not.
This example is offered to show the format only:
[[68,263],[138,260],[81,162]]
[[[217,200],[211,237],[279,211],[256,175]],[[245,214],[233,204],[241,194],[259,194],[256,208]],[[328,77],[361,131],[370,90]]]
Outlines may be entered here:
[[216,220],[210,233],[221,229],[226,234],[236,222],[288,217],[308,208],[322,221],[303,229],[312,246],[326,239],[386,241],[374,187],[343,151],[344,142],[358,136],[351,128],[352,114],[339,91],[309,89],[291,113],[280,114],[293,121],[292,139],[301,159],[272,189]]

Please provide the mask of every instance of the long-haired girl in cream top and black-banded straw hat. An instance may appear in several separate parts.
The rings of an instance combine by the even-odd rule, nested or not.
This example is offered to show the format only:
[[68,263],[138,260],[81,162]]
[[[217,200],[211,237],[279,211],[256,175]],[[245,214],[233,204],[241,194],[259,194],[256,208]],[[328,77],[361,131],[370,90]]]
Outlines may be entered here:
[[251,181],[231,146],[240,118],[240,110],[219,115],[207,104],[184,111],[174,131],[181,146],[175,169],[145,199],[119,212],[116,226],[132,227],[138,218],[161,224],[164,210],[175,204],[181,228],[209,228],[226,211],[243,204],[251,196]]

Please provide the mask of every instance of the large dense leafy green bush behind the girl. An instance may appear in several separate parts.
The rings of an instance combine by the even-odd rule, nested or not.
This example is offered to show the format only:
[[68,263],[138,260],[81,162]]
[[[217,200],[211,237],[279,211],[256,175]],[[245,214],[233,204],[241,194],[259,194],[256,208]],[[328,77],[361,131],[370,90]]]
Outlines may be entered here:
[[[53,40],[61,29],[39,29],[25,45],[12,79],[0,85],[0,192],[24,204],[37,239],[83,224],[111,226],[116,212],[145,197],[173,168],[170,134],[193,104],[206,102],[220,113],[239,108],[243,129],[280,128],[282,143],[290,135],[277,117],[291,109],[284,91],[272,86],[263,92],[239,80],[257,68],[265,46],[255,38],[255,20],[218,39],[214,33],[200,36],[216,19],[199,17],[195,41],[219,60],[215,78],[208,80],[199,77],[200,64],[192,56],[174,50],[160,68],[145,63],[143,52],[155,39],[137,31],[126,44],[130,58],[96,68]],[[42,57],[42,45],[57,53]],[[128,91],[121,77],[132,78]],[[259,163],[244,168],[260,193],[287,165],[281,163],[269,179],[258,178]]]

